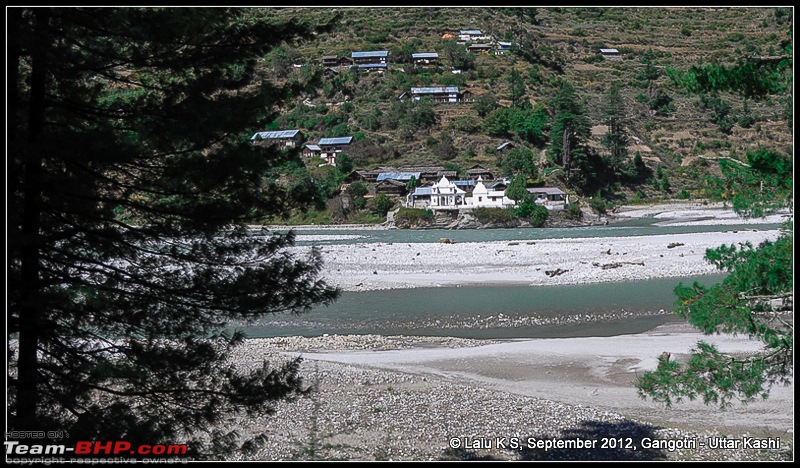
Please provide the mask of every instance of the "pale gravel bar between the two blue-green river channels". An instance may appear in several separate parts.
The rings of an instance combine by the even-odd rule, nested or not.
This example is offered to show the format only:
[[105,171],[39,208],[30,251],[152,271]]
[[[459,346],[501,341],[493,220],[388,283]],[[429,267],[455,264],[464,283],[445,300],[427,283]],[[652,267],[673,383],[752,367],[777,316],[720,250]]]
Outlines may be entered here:
[[[688,277],[722,244],[775,240],[779,230],[519,242],[327,245],[322,276],[345,291],[480,284],[531,286]],[[299,255],[311,247],[293,247]]]

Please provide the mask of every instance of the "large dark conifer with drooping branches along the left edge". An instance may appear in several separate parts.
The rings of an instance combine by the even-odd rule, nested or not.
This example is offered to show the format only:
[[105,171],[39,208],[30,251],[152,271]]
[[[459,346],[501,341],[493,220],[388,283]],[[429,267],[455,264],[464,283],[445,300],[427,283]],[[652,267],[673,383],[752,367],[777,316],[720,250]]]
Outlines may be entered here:
[[338,294],[293,234],[246,229],[305,202],[276,172],[297,153],[249,136],[296,91],[259,57],[310,29],[223,8],[10,8],[7,29],[7,429],[238,446],[226,418],[304,386],[297,360],[228,362],[226,326]]

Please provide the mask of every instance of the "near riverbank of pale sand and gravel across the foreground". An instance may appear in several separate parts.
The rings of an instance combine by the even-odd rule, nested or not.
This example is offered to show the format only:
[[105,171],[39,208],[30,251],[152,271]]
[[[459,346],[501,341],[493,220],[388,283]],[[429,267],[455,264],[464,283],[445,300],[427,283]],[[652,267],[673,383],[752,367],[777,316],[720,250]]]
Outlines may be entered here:
[[[606,338],[464,340],[403,336],[248,340],[233,356],[304,358],[319,391],[281,403],[274,416],[241,421],[268,428],[252,459],[775,460],[793,457],[793,386],[766,401],[721,411],[690,402],[665,408],[638,397],[633,382],[670,350],[682,359],[701,335],[685,325]],[[708,337],[727,352],[745,338]],[[498,450],[475,440],[630,439],[633,449]],[[773,437],[778,450],[718,450],[714,437]],[[451,440],[456,438],[453,448]],[[644,439],[696,441],[695,448],[647,449]]]

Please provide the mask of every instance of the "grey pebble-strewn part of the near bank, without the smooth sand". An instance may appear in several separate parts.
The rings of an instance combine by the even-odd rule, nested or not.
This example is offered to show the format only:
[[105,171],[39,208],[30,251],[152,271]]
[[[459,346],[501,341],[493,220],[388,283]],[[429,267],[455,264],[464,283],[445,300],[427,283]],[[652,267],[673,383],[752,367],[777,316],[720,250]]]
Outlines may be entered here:
[[[248,367],[262,358],[273,362],[289,359],[292,353],[287,354],[287,351],[305,355],[312,350],[343,354],[365,349],[394,349],[405,353],[438,350],[445,355],[464,347],[477,351],[501,343],[376,335],[289,337],[248,340],[232,358]],[[259,451],[238,460],[778,460],[793,457],[792,449],[787,448],[791,433],[776,431],[771,434],[780,439],[782,448],[778,450],[714,449],[709,445],[715,438],[742,441],[746,434],[720,432],[713,427],[654,424],[621,412],[501,391],[454,375],[414,372],[413,366],[400,371],[317,360],[313,356],[309,354],[304,359],[301,369],[306,382],[314,384],[318,391],[296,402],[279,404],[272,416],[238,421],[242,431],[264,429],[268,433],[268,440]],[[767,435],[758,434],[758,437]],[[653,447],[652,441],[672,444],[673,450],[666,446]],[[594,444],[594,447],[545,450],[536,445],[548,443]],[[602,443],[606,447],[601,447]],[[708,445],[702,446],[703,443]]]

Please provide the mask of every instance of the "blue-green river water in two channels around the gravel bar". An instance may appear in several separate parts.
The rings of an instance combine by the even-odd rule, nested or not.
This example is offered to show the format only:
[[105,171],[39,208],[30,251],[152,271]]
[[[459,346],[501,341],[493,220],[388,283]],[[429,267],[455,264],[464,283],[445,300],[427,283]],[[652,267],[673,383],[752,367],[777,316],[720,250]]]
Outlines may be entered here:
[[[658,226],[639,219],[612,226],[544,229],[303,229],[298,245],[456,242],[646,236],[777,229],[777,224]],[[568,286],[472,286],[344,292],[327,307],[273,315],[236,328],[249,337],[325,334],[555,338],[640,333],[677,318],[679,282],[711,285],[724,275]]]

